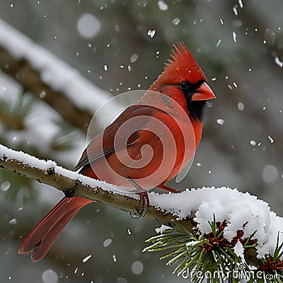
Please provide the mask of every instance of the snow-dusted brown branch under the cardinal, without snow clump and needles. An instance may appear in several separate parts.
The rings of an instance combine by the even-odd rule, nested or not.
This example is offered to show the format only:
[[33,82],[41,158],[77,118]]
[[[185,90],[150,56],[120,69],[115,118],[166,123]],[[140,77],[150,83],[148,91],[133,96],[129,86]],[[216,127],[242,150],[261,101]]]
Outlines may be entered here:
[[[39,183],[56,187],[68,197],[85,197],[89,200],[107,204],[110,207],[115,207],[133,214],[137,213],[137,208],[139,207],[139,200],[129,197],[129,195],[122,195],[115,191],[115,189],[109,190],[109,187],[100,180],[94,180],[59,167],[54,161],[40,160],[21,151],[8,149],[1,144],[0,168],[37,180]],[[170,195],[165,195],[166,197],[170,197]],[[158,195],[158,197],[162,196],[164,194]],[[174,196],[175,194],[171,197]],[[180,233],[187,234],[187,232],[190,232],[195,234],[197,223],[194,221],[194,215],[187,216],[185,219],[178,219],[178,216],[175,216],[175,214],[158,209],[158,204],[156,204],[156,207],[153,205],[150,206],[145,217],[156,220],[159,224],[171,227]],[[245,249],[245,259],[250,265],[259,266],[255,248]]]

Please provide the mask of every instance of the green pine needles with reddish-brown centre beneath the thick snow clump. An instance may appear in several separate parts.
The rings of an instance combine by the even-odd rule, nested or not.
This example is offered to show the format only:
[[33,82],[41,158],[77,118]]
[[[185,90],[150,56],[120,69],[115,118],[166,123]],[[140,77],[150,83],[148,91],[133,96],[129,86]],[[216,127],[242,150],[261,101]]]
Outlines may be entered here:
[[[173,274],[190,278],[193,283],[238,283],[244,277],[246,282],[283,283],[283,272],[280,268],[268,270],[267,261],[277,263],[279,267],[283,263],[279,260],[283,255],[283,244],[279,245],[279,238],[274,256],[262,259],[263,279],[256,277],[258,270],[250,270],[248,264],[236,253],[233,248],[238,241],[241,241],[243,248],[255,248],[256,239],[253,239],[256,231],[248,238],[242,238],[243,231],[237,231],[237,236],[232,241],[224,238],[224,227],[226,222],[216,222],[215,217],[212,223],[212,232],[201,234],[200,231],[192,234],[190,232],[179,233],[173,229],[166,229],[157,236],[149,238],[146,243],[151,245],[144,248],[144,252],[168,250],[168,253],[161,256],[161,259],[168,259],[166,265],[175,265]],[[253,276],[252,276],[253,275]],[[237,277],[238,276],[238,277]],[[239,279],[240,277],[240,279]]]

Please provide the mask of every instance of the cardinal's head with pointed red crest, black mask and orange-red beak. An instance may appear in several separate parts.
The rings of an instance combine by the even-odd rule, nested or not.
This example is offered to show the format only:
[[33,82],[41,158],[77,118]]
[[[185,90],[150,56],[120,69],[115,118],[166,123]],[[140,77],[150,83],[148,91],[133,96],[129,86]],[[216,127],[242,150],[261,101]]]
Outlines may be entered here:
[[149,90],[170,96],[188,111],[192,120],[202,121],[207,100],[215,98],[207,78],[183,43],[174,45],[171,57]]

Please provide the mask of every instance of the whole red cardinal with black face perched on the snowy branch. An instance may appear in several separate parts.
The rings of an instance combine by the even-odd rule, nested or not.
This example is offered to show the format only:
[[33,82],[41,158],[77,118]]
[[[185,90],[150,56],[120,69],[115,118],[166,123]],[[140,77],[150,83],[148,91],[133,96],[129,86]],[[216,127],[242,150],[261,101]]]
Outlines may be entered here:
[[[171,57],[141,100],[88,144],[75,168],[91,178],[134,187],[142,211],[149,207],[146,189],[177,192],[165,184],[195,154],[202,137],[206,100],[215,98],[183,43],[174,46]],[[41,260],[64,226],[90,202],[82,197],[63,197],[29,233],[18,253],[31,252],[33,262]]]

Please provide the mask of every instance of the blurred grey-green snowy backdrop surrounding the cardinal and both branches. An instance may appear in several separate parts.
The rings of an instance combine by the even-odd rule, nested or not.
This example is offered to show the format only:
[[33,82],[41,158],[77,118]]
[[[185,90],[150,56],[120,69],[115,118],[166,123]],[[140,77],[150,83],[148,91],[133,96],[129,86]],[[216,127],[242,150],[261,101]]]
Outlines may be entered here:
[[[0,0],[0,7],[2,20],[97,86],[93,100],[149,88],[183,40],[217,99],[190,173],[174,186],[237,187],[283,214],[281,0]],[[50,106],[45,93],[0,72],[1,144],[73,168],[86,136],[59,114],[56,99]],[[100,204],[85,207],[32,263],[18,245],[62,194],[4,170],[0,187],[0,282],[188,282],[171,275],[162,253],[141,253],[158,224]]]

